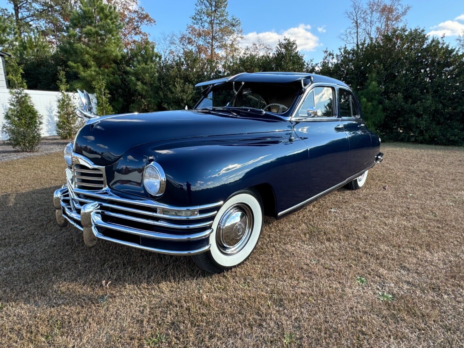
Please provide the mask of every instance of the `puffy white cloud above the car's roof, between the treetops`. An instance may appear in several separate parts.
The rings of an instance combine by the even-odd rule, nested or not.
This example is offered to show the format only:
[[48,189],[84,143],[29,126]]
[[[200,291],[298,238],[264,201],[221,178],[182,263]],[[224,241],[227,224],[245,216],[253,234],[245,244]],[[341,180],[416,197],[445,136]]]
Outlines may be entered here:
[[249,32],[244,35],[241,45],[244,47],[249,46],[260,39],[271,47],[275,47],[279,40],[282,41],[284,38],[289,38],[296,40],[296,44],[300,51],[314,51],[314,49],[319,45],[319,38],[310,32],[310,29],[310,25],[300,24],[297,27],[287,29],[281,33],[277,33],[275,31]]

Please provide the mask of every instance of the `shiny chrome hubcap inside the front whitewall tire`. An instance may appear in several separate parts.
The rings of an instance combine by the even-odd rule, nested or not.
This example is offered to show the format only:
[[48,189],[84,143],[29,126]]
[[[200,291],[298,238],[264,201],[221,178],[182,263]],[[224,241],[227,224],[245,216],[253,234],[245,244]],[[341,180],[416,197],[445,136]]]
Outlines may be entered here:
[[253,229],[253,213],[249,206],[239,203],[231,206],[219,220],[216,243],[219,250],[227,255],[242,250]]

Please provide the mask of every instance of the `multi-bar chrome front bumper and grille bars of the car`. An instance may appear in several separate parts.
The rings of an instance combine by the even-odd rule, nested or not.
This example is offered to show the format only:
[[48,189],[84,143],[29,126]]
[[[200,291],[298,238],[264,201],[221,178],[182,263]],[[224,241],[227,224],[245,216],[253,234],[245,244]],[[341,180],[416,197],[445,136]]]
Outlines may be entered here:
[[[169,255],[195,255],[210,248],[209,236],[218,202],[175,207],[153,200],[128,198],[106,188],[88,191],[73,187],[72,172],[55,191],[53,206],[59,226],[69,222],[84,233],[87,245],[98,239]],[[171,215],[163,214],[168,211]],[[192,216],[181,216],[190,212]]]

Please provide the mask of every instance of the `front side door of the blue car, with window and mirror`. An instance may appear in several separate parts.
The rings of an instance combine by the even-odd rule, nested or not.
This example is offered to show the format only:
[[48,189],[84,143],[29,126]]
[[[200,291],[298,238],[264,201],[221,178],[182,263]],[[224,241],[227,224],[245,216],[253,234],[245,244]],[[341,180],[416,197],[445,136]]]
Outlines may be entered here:
[[293,117],[295,133],[308,148],[308,199],[343,182],[349,142],[337,117],[335,85],[315,84]]

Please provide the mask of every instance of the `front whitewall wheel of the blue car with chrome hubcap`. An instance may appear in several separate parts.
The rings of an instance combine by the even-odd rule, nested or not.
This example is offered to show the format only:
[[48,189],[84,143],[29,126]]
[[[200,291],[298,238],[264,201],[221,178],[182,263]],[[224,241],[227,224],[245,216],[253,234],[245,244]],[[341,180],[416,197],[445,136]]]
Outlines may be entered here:
[[255,249],[263,227],[263,204],[257,193],[241,190],[219,209],[209,237],[211,249],[194,255],[202,270],[220,273],[244,262]]

